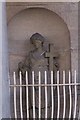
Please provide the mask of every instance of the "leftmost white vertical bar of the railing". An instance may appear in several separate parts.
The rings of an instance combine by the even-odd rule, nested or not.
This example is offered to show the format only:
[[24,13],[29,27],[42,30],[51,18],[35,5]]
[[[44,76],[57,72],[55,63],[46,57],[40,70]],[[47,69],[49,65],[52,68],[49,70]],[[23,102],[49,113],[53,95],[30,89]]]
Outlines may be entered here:
[[[13,73],[14,85],[16,85],[16,75]],[[16,106],[16,86],[14,86],[14,115],[17,118],[17,106]]]

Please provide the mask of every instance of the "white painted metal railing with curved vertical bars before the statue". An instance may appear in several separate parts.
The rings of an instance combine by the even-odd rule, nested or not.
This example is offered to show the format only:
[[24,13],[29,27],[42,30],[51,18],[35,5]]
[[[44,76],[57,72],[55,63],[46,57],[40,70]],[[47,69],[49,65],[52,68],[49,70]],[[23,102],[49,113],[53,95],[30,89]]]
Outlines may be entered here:
[[[51,74],[50,74],[50,83],[48,84],[47,81],[48,81],[48,74],[47,74],[47,71],[44,72],[44,84],[41,84],[41,72],[39,71],[39,74],[38,74],[38,78],[39,78],[39,82],[38,84],[35,84],[35,72],[32,71],[32,84],[29,84],[29,77],[28,77],[28,72],[26,71],[26,75],[25,75],[25,84],[22,83],[23,79],[22,79],[22,73],[20,72],[19,74],[19,80],[20,80],[20,84],[16,84],[16,81],[17,81],[17,77],[16,77],[16,73],[14,72],[13,73],[13,78],[14,78],[14,84],[10,84],[10,88],[14,88],[14,117],[15,118],[18,118],[17,116],[17,97],[16,97],[16,94],[17,94],[17,87],[20,88],[20,117],[21,119],[24,118],[23,116],[23,98],[22,98],[22,95],[24,94],[22,92],[22,89],[23,87],[26,88],[26,116],[27,118],[30,118],[30,110],[29,110],[29,96],[30,96],[30,92],[29,92],[29,87],[32,88],[32,116],[33,118],[36,118],[36,107],[35,107],[35,99],[36,99],[36,93],[35,93],[35,87],[38,87],[39,88],[39,108],[38,108],[38,118],[41,118],[41,91],[42,91],[42,87],[44,87],[44,94],[45,94],[45,109],[44,109],[44,116],[45,118],[48,118],[48,87],[51,87],[51,109],[50,109],[50,114],[51,114],[51,117],[50,118],[54,118],[54,111],[55,111],[55,107],[54,107],[54,104],[55,104],[55,100],[54,100],[54,92],[55,90],[57,91],[57,112],[56,112],[56,118],[60,118],[60,114],[61,114],[61,91],[60,91],[60,88],[62,87],[62,90],[63,90],[63,108],[62,108],[62,119],[66,118],[66,106],[67,106],[67,93],[66,93],[66,87],[68,88],[68,95],[69,95],[69,107],[68,107],[68,116],[67,118],[76,118],[76,114],[77,114],[77,97],[78,97],[78,94],[77,94],[77,86],[80,86],[80,83],[77,83],[77,75],[76,75],[76,71],[75,71],[75,74],[74,74],[74,82],[71,82],[71,72],[69,71],[68,73],[68,80],[66,80],[66,72],[63,71],[63,74],[62,74],[62,80],[63,82],[61,83],[60,82],[60,72],[57,71],[57,81],[56,83],[54,84],[54,72],[51,71]],[[74,97],[72,97],[72,88],[73,91],[74,91]],[[74,103],[73,103],[73,99],[74,98]],[[74,110],[72,110],[74,109]]]

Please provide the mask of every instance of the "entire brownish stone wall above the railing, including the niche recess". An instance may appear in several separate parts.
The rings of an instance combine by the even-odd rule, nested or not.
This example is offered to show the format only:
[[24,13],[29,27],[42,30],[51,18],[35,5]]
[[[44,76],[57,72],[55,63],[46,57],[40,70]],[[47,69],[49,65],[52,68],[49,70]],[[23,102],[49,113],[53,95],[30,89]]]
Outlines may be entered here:
[[59,50],[69,50],[67,58],[66,52],[59,51],[62,70],[78,71],[78,3],[7,3],[7,21],[11,74],[32,49],[29,39],[34,32],[40,32]]

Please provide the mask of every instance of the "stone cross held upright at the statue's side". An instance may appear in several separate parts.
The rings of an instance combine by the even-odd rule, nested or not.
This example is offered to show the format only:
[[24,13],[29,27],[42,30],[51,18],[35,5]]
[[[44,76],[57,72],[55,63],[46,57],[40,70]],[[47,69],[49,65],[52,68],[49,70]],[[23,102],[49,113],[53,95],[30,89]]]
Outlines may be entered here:
[[45,53],[45,57],[49,58],[49,70],[53,71],[56,69],[56,66],[54,64],[54,58],[58,58],[58,54],[54,50],[53,44],[49,44],[49,52]]

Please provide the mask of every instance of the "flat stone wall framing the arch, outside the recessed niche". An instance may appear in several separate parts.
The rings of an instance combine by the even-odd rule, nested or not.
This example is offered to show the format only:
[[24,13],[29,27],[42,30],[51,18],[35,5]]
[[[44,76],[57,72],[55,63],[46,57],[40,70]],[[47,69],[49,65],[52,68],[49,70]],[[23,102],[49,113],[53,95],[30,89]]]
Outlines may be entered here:
[[[27,8],[46,8],[58,14],[68,27],[70,34],[71,70],[78,70],[78,4],[77,3],[8,3],[8,25],[12,18]],[[15,8],[15,10],[14,10]],[[13,18],[14,19],[14,18]],[[28,39],[29,39],[28,35]]]

